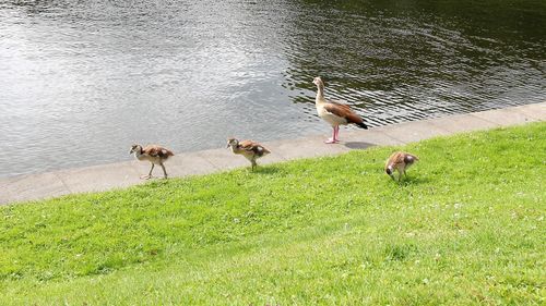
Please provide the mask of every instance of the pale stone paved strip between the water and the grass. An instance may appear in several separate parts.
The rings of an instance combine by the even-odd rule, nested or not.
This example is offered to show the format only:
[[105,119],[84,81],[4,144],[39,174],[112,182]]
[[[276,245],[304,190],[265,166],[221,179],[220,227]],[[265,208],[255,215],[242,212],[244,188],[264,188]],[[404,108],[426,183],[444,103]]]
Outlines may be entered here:
[[[371,146],[404,145],[435,136],[524,124],[533,121],[546,121],[546,102],[406,122],[366,131],[342,131],[341,138],[344,142],[337,145],[322,143],[324,138],[330,136],[328,133],[299,139],[263,143],[272,154],[261,159],[260,163],[337,155]],[[171,178],[205,174],[249,166],[245,158],[234,156],[230,150],[225,148],[180,152],[166,164]],[[3,179],[0,180],[0,204],[127,187],[145,182],[139,178],[146,174],[149,170],[150,163],[132,160]],[[156,171],[158,172],[155,174],[162,174],[161,168]]]

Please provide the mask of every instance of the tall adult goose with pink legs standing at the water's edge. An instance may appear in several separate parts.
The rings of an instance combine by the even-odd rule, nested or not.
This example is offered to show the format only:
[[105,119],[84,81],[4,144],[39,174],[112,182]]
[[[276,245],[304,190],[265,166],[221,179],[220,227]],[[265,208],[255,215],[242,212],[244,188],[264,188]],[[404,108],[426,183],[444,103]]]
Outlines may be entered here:
[[320,76],[314,77],[312,83],[317,85],[317,98],[314,99],[317,112],[319,113],[319,117],[330,123],[333,128],[332,138],[325,140],[324,143],[335,144],[340,142],[337,138],[337,135],[340,134],[340,125],[354,123],[361,128],[368,128],[368,125],[364,123],[363,119],[348,106],[324,99],[324,83]]

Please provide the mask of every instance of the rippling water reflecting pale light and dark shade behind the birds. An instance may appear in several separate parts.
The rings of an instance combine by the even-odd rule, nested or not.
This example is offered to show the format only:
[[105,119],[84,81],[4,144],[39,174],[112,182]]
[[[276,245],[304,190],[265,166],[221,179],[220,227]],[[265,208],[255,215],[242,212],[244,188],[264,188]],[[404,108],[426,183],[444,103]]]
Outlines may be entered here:
[[545,101],[545,28],[544,0],[0,0],[0,176],[328,134],[317,75],[371,126]]

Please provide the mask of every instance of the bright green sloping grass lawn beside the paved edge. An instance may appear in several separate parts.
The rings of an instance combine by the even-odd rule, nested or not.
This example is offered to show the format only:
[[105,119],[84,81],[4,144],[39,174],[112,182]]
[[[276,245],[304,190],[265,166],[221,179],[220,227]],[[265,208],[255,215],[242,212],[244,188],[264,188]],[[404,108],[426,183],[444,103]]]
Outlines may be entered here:
[[394,149],[1,207],[0,305],[545,305],[546,123]]

